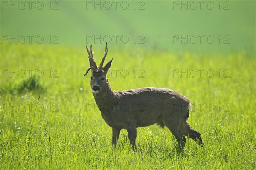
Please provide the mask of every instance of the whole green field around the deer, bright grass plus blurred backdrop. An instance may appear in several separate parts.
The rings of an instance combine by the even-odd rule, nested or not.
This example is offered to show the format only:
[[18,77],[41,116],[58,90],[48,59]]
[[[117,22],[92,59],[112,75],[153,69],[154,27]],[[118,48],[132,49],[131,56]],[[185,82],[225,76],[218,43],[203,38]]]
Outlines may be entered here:
[[[256,169],[255,1],[28,2],[0,1],[1,170]],[[85,45],[99,64],[105,42],[111,88],[186,96],[204,147],[186,138],[179,155],[157,125],[137,129],[136,153],[126,130],[111,146],[90,72],[83,77]]]

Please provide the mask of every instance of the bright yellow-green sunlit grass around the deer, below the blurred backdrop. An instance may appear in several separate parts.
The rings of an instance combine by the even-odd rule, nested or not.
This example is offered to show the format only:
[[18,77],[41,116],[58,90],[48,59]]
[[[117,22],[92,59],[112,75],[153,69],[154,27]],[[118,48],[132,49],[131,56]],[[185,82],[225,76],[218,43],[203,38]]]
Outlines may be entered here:
[[[93,45],[93,49],[99,63],[104,45]],[[115,45],[108,49],[106,60],[114,57],[112,71],[120,69],[109,77],[112,89],[153,86],[187,96],[194,104],[189,122],[202,134],[204,147],[188,139],[184,154],[178,155],[172,133],[152,125],[138,128],[136,154],[126,130],[121,131],[114,149],[111,128],[91,94],[90,78],[83,77],[89,67],[84,48],[4,43],[0,51],[0,169],[256,168],[254,55],[176,55],[139,48],[119,50]],[[120,74],[124,68],[128,77]],[[15,69],[17,74],[9,75]],[[28,69],[33,69],[31,75]],[[188,77],[173,74],[180,69],[187,69]],[[194,77],[192,69],[205,70]],[[214,71],[212,77],[206,74],[208,69]],[[37,78],[31,79],[34,74]],[[34,86],[18,90],[29,82]]]

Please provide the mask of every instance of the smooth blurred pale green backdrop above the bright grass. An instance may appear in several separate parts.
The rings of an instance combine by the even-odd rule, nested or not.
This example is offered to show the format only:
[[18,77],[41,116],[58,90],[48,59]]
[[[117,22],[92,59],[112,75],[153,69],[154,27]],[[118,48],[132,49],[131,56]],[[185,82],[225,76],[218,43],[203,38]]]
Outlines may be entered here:
[[2,0],[0,20],[1,44],[9,42],[9,35],[22,35],[25,43],[30,43],[28,35],[33,35],[31,43],[41,35],[44,40],[38,37],[38,42],[51,45],[108,42],[112,48],[203,55],[254,54],[256,46],[254,0]]

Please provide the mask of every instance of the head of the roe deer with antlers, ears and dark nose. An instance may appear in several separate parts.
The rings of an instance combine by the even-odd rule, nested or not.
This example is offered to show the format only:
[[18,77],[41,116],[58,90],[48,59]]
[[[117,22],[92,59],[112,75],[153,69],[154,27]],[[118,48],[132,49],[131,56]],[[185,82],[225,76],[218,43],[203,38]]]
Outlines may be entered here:
[[90,85],[93,90],[93,95],[96,95],[98,93],[101,93],[102,91],[105,91],[107,88],[109,88],[109,83],[106,75],[111,66],[113,58],[106,65],[103,66],[104,60],[108,53],[108,45],[106,43],[105,53],[102,58],[102,62],[99,64],[99,67],[98,67],[93,58],[94,53],[92,52],[92,45],[90,45],[90,51],[88,50],[87,46],[86,46],[86,49],[89,55],[88,58],[89,58],[90,67],[87,69],[84,76],[88,73],[89,70],[92,70]]

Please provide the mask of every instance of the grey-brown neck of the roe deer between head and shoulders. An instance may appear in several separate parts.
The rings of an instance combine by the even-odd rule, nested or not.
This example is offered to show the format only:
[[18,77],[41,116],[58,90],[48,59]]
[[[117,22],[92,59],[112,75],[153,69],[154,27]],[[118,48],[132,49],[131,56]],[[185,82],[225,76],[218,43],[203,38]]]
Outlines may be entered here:
[[111,90],[110,85],[101,94],[94,95],[95,102],[102,113],[111,112],[116,105],[116,95]]

